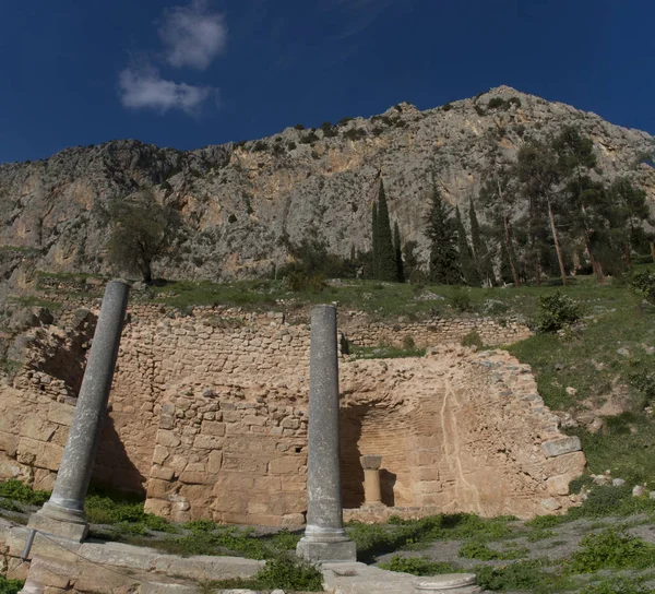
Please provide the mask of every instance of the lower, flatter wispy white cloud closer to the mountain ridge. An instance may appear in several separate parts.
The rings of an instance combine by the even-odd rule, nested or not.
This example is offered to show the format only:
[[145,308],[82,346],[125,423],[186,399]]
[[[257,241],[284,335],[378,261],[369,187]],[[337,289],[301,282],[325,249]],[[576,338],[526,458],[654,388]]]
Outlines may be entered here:
[[169,109],[181,109],[198,115],[202,105],[211,97],[217,99],[218,92],[210,86],[194,86],[162,79],[153,67],[127,68],[118,78],[120,102],[133,109],[151,108],[160,114]]

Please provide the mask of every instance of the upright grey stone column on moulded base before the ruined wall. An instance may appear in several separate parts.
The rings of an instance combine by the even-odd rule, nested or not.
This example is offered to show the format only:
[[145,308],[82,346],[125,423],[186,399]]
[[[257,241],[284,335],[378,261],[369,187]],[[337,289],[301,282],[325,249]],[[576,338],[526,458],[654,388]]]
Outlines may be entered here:
[[340,460],[336,308],[311,310],[307,527],[298,556],[309,561],[355,561],[343,524]]

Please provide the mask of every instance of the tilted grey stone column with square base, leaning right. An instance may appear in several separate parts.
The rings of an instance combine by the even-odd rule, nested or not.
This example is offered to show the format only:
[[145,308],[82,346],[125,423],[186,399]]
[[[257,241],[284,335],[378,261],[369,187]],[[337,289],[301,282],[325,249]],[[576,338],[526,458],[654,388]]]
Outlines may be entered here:
[[50,500],[31,518],[28,527],[79,542],[86,537],[84,499],[100,444],[129,290],[122,281],[111,281],[105,289],[55,488]]

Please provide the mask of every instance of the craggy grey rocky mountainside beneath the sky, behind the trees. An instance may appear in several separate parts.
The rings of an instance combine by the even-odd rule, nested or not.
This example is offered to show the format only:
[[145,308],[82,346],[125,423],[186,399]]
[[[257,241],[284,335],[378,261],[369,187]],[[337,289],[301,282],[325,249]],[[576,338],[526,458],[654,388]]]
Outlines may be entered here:
[[[490,109],[498,97],[519,102]],[[653,205],[655,169],[638,165],[640,154],[653,151],[653,136],[500,86],[426,111],[400,104],[329,131],[287,128],[254,142],[190,152],[110,141],[67,148],[46,161],[1,165],[0,274],[17,274],[25,259],[41,270],[106,272],[107,209],[140,188],[152,188],[184,219],[175,254],[155,270],[168,277],[271,272],[285,261],[289,242],[307,237],[342,256],[353,246],[370,249],[380,178],[392,224],[397,221],[403,239],[416,240],[425,251],[424,216],[434,170],[443,195],[466,205],[492,144],[511,157],[523,138],[565,124],[593,139],[604,177],[631,176]]]

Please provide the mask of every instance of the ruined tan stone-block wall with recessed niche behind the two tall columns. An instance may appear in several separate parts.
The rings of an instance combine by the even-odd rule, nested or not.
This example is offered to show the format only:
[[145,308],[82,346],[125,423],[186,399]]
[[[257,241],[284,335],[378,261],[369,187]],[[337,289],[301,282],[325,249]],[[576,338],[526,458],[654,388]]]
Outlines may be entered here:
[[[34,330],[14,387],[0,388],[0,477],[51,487],[75,402],[82,336],[93,325],[87,313],[67,313],[76,334]],[[130,308],[95,480],[141,491],[148,510],[175,520],[301,523],[309,326],[282,313],[195,313]],[[384,333],[400,342],[413,333],[419,345],[421,336],[444,336],[420,324],[378,324],[367,334],[343,318],[340,329],[360,344],[377,344]],[[466,334],[467,324],[452,322],[460,330],[449,335]],[[505,330],[501,342],[526,332]],[[79,345],[71,346],[74,360],[51,355],[52,341]],[[51,375],[52,356],[62,361],[57,369],[70,369],[63,379]],[[412,513],[526,516],[571,504],[568,479],[582,471],[584,455],[567,463],[559,456],[558,464],[546,458],[541,443],[562,436],[529,369],[507,353],[451,346],[425,358],[342,357],[340,373],[345,507],[364,500],[359,456],[368,453],[383,456],[383,502]]]

